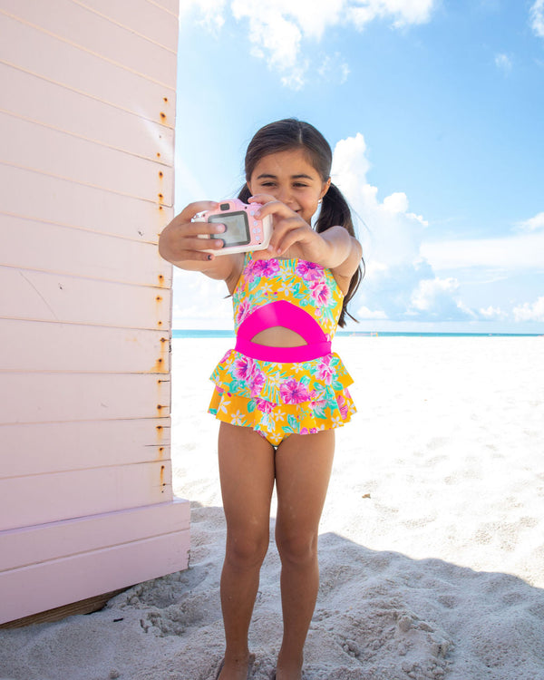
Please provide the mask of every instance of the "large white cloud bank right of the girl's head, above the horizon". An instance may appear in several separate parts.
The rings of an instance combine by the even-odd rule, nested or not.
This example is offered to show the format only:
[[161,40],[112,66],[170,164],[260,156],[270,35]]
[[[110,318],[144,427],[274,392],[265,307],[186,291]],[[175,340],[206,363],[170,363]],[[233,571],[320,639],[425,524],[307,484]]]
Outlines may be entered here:
[[[514,315],[511,307],[505,311],[493,298],[483,306],[468,305],[464,296],[470,282],[461,282],[459,274],[474,267],[476,283],[483,286],[482,273],[488,278],[491,273],[493,280],[512,272],[544,270],[544,215],[518,226],[526,233],[426,243],[427,222],[410,210],[406,194],[395,191],[381,200],[378,189],[368,182],[371,166],[361,133],[339,141],[333,159],[333,181],[364,221],[359,238],[366,276],[353,306],[357,318],[418,322],[539,318],[539,306],[521,306]],[[441,276],[444,271],[448,276]]]

